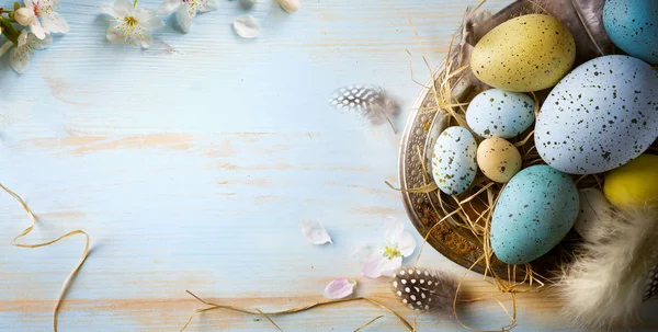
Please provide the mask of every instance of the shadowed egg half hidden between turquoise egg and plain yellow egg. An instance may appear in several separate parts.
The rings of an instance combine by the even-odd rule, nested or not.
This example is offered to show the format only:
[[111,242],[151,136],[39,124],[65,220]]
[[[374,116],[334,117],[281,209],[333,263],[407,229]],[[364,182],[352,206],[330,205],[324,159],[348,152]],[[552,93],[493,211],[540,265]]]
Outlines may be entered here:
[[580,211],[574,224],[574,229],[586,240],[591,238],[592,231],[600,226],[601,218],[612,205],[605,195],[597,188],[583,188],[578,191],[580,197]]

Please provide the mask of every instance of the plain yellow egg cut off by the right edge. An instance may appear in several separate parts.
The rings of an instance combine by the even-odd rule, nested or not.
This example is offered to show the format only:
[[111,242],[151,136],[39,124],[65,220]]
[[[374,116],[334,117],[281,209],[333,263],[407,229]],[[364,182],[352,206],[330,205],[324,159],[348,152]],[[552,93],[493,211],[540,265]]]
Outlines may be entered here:
[[642,154],[610,171],[603,192],[621,208],[658,204],[658,156]]

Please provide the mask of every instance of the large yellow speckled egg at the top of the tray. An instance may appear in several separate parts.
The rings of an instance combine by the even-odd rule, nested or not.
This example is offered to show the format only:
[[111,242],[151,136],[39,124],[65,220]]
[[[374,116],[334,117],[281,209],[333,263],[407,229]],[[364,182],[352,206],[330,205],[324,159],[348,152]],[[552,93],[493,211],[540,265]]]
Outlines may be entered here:
[[551,88],[576,60],[574,36],[557,19],[523,15],[487,33],[475,46],[470,69],[483,82],[507,91]]

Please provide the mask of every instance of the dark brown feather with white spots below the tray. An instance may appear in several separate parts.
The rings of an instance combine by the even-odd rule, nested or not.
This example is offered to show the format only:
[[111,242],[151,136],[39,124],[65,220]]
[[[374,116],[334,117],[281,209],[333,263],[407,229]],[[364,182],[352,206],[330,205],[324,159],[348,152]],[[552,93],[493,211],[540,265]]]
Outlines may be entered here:
[[452,314],[457,282],[430,268],[400,267],[393,275],[390,289],[409,309]]

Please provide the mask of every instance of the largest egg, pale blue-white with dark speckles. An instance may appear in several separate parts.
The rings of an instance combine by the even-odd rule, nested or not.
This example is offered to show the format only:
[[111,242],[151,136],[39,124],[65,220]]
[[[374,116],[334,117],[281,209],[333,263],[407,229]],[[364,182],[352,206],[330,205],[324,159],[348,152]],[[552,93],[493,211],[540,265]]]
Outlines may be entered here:
[[658,71],[627,56],[590,60],[551,91],[535,146],[553,168],[601,173],[636,158],[658,137]]

